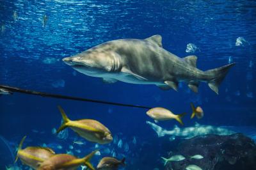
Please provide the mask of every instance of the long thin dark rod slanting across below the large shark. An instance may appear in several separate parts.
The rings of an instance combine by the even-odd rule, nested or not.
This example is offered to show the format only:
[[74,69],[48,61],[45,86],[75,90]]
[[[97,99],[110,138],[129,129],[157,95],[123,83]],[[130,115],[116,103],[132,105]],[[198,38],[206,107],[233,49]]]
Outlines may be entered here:
[[28,89],[20,89],[20,88],[15,88],[15,87],[11,87],[11,86],[5,86],[5,85],[1,85],[1,84],[0,84],[0,88],[8,89],[9,91],[12,91],[12,92],[26,93],[28,95],[38,95],[41,97],[63,98],[63,99],[68,99],[68,100],[78,100],[78,101],[93,102],[93,103],[108,104],[108,105],[119,105],[119,106],[125,106],[125,107],[137,107],[137,108],[142,108],[142,109],[151,109],[152,108],[152,107],[147,107],[147,106],[143,106],[143,105],[120,104],[120,103],[115,103],[115,102],[92,100],[92,99],[88,99],[88,98],[55,95],[55,94],[50,94],[50,93],[43,93],[40,91],[32,91],[32,90],[28,90]]

